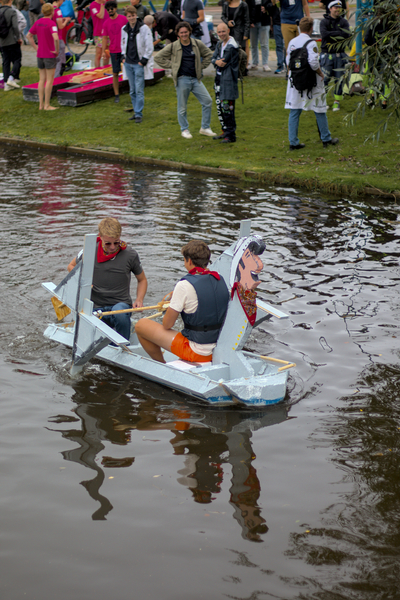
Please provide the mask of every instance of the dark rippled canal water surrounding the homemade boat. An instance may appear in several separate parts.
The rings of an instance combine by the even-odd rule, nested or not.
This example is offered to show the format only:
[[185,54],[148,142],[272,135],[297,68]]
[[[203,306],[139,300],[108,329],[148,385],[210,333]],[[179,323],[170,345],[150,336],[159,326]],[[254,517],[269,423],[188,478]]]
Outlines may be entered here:
[[[0,151],[1,600],[399,599],[399,207]],[[286,402],[216,410],[43,330],[104,216],[159,301],[179,249],[239,221],[289,313],[248,347],[297,363]]]

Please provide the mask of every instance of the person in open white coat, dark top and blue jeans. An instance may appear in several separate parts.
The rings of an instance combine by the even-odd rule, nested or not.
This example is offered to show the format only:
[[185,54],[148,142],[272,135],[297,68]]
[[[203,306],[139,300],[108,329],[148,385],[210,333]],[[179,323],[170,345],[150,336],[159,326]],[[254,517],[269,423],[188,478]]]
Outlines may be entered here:
[[144,81],[153,79],[153,36],[150,28],[137,18],[136,8],[125,9],[127,25],[121,32],[121,52],[124,57],[125,72],[129,81],[133,115],[130,121],[141,123],[144,108]]

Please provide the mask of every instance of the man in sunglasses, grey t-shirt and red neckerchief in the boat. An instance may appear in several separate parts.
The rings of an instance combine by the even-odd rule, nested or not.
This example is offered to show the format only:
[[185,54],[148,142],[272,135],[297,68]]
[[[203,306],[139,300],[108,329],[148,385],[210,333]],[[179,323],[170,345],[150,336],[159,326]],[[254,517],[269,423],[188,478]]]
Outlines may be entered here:
[[[82,250],[71,260],[72,271],[82,259]],[[130,295],[131,273],[138,282],[136,300]],[[95,310],[103,312],[140,308],[147,290],[147,279],[136,250],[121,241],[121,225],[117,219],[107,217],[99,223],[96,260],[93,270],[91,300]],[[103,317],[103,321],[129,340],[131,317],[129,313]]]

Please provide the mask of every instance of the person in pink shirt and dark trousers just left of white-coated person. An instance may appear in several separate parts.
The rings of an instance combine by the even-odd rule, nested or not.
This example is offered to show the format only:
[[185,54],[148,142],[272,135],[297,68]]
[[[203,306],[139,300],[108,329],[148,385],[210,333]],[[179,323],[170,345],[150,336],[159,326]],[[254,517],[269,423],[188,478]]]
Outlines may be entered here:
[[110,17],[103,25],[103,58],[107,48],[110,49],[111,65],[113,71],[113,89],[114,102],[119,102],[119,73],[121,71],[121,31],[128,23],[128,19],[124,15],[117,13],[116,0],[108,0],[105,9]]

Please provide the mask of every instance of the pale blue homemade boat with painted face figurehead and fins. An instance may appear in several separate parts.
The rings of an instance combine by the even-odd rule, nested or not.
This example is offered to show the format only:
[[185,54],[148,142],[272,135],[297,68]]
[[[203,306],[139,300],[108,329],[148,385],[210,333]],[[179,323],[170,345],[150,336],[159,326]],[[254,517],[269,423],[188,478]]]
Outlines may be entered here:
[[253,326],[272,316],[288,318],[260,300],[254,305],[256,313],[253,315],[249,315],[248,306],[243,304],[239,292],[246,276],[245,269],[250,277],[256,278],[251,263],[265,248],[260,249],[261,238],[251,235],[250,227],[251,221],[242,221],[239,240],[210,267],[219,272],[231,291],[212,362],[190,363],[168,351],[164,353],[166,363],[157,362],[145,352],[134,332],[128,343],[93,313],[90,295],[96,254],[97,236],[94,234],[85,236],[83,260],[58,286],[51,282],[42,284],[71,309],[73,318],[72,323],[49,325],[45,337],[72,348],[72,375],[97,356],[109,364],[212,405],[261,407],[281,402],[286,395],[288,369],[296,365],[243,350]]

